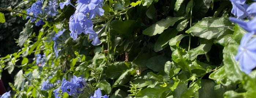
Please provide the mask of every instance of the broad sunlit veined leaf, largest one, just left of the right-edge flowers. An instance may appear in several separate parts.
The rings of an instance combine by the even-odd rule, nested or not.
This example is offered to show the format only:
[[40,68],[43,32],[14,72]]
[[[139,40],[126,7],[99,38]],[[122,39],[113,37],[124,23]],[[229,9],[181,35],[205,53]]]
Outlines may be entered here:
[[227,34],[233,34],[232,29],[233,25],[227,18],[208,17],[190,27],[186,33],[192,33],[200,38],[213,39]]

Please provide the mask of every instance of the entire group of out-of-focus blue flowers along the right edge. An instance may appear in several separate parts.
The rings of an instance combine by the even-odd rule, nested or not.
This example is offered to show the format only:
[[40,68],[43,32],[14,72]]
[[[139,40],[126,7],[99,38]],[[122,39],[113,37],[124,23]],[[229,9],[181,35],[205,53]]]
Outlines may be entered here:
[[[230,17],[229,20],[238,23],[240,27],[248,32],[241,39],[235,60],[240,62],[241,70],[249,74],[256,67],[256,37],[254,37],[256,34],[256,18],[254,18],[256,2],[248,5],[245,4],[246,0],[230,1],[233,5],[231,13],[236,15],[237,18]],[[245,22],[244,18],[249,19],[249,21]]]

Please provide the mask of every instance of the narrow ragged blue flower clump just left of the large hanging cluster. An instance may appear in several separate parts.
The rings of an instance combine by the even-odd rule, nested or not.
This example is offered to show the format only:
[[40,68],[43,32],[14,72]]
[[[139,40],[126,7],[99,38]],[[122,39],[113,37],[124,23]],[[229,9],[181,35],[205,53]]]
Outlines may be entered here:
[[59,50],[57,49],[58,47],[61,47],[60,44],[64,44],[64,40],[59,38],[60,35],[63,34],[63,32],[66,31],[66,29],[63,29],[62,31],[59,31],[58,34],[55,34],[54,37],[52,38],[53,39],[53,49],[54,49],[54,53],[56,54],[56,57],[59,56]]

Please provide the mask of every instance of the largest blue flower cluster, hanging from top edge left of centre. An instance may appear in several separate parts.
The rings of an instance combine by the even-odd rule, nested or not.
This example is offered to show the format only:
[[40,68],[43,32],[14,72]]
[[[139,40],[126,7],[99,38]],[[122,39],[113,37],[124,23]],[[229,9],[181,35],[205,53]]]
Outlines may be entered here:
[[68,4],[76,8],[75,13],[70,16],[69,20],[71,38],[75,40],[77,39],[77,35],[81,33],[90,34],[89,39],[94,39],[92,44],[100,44],[98,34],[93,30],[93,22],[91,19],[95,18],[96,15],[102,16],[104,14],[104,10],[101,8],[103,0],[77,0],[76,3],[77,7],[72,5],[70,0],[60,3],[61,9]]

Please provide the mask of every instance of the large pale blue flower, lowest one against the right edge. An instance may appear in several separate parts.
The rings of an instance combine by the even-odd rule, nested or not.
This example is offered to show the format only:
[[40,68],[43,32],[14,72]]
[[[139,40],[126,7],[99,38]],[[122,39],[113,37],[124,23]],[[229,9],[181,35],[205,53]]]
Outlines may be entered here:
[[256,67],[256,37],[253,33],[246,33],[241,39],[235,60],[240,62],[241,70],[249,74]]

